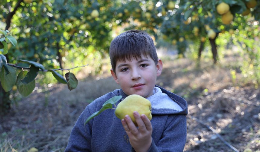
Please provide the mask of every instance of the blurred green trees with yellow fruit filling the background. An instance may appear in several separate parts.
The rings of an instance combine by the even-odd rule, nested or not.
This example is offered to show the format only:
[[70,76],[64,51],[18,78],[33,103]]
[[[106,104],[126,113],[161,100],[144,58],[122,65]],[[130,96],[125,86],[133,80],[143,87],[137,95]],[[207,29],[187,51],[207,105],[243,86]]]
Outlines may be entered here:
[[[180,58],[199,60],[203,50],[210,49],[213,63],[218,63],[222,52],[236,46],[243,50],[243,62],[238,64],[245,79],[259,85],[260,2],[256,0],[3,0],[0,8],[0,29],[9,30],[18,42],[16,46],[6,40],[7,46],[0,43],[0,54],[12,65],[20,59],[45,69],[89,64],[94,67],[89,73],[96,74],[108,57],[111,40],[123,30],[138,29],[148,32],[157,47],[170,45]],[[57,82],[48,73],[40,72],[37,82]],[[0,105],[8,109],[15,95],[0,88]]]

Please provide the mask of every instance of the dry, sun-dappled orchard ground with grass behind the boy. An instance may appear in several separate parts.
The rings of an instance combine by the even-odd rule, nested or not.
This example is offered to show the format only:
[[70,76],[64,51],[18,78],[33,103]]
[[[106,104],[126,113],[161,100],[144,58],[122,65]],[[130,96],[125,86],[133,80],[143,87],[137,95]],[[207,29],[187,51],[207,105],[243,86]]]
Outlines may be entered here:
[[[170,54],[162,59],[164,68],[157,84],[188,102],[184,151],[233,151],[218,135],[239,151],[259,151],[260,89],[242,83],[236,67],[241,62],[239,56],[226,55],[217,65],[211,59],[201,59],[198,65]],[[236,69],[235,79],[231,68]],[[73,125],[89,102],[119,88],[109,75],[108,70],[89,75],[75,90],[55,84],[22,98],[10,113],[1,116],[0,151],[28,151],[31,147],[64,151]]]

